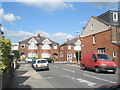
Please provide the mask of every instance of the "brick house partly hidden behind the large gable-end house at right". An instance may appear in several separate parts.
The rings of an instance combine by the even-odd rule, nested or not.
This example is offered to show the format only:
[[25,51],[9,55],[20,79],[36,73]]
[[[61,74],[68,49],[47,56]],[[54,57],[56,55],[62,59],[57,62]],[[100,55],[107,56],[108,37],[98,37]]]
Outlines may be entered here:
[[81,41],[78,40],[78,36],[68,40],[64,44],[60,45],[60,56],[61,61],[75,61],[76,55],[75,52],[81,51]]

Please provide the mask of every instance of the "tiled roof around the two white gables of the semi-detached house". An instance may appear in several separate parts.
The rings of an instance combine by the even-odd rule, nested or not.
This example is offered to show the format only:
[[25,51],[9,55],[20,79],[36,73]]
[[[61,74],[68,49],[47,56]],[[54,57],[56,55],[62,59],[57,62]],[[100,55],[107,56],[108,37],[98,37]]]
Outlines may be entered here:
[[[25,39],[23,41],[20,41],[19,43],[28,43],[32,38],[34,38],[39,44],[42,44],[42,42],[46,39],[45,37],[38,38],[37,36],[30,37],[28,39]],[[47,38],[48,39],[48,38]],[[52,44],[59,44],[53,40],[48,39]]]

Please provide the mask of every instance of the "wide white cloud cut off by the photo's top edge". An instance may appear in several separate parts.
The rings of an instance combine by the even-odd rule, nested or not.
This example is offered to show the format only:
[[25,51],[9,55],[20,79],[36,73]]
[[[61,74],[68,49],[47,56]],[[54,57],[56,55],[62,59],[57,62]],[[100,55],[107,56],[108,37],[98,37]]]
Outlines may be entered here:
[[62,9],[67,9],[67,8],[72,8],[73,9],[73,4],[71,3],[65,3],[63,0],[59,0],[59,2],[56,0],[52,0],[52,2],[39,2],[40,0],[17,0],[18,2],[22,2],[23,4],[27,6],[33,6],[40,8],[46,12],[54,12],[57,10],[62,10]]

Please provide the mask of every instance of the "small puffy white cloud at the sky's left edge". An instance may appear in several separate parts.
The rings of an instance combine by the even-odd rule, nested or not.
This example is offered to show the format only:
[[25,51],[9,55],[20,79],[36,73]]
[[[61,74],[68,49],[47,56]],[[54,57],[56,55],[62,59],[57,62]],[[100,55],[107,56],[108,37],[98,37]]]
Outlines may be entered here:
[[15,16],[12,13],[5,14],[4,9],[0,9],[0,20],[13,24],[18,19],[21,19],[21,17]]

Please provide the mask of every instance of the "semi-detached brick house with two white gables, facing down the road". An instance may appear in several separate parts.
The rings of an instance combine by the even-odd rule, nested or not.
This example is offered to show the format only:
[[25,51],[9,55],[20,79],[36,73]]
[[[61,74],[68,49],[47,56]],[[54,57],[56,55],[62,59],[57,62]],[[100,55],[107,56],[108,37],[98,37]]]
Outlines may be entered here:
[[19,53],[26,57],[49,58],[55,56],[57,58],[59,44],[46,37],[32,36],[19,42]]

